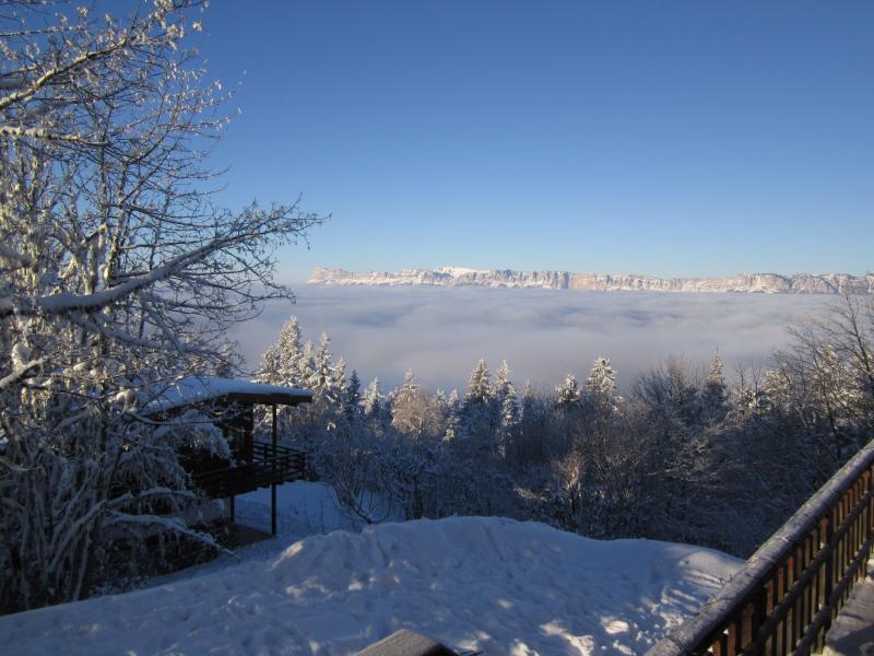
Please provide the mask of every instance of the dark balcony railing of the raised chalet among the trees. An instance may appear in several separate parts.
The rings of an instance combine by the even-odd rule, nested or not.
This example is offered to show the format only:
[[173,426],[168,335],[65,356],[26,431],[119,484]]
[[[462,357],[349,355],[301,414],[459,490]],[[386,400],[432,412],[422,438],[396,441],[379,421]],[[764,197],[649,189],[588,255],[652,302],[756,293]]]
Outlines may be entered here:
[[306,466],[306,453],[302,450],[255,441],[251,462],[196,473],[192,480],[197,488],[217,499],[300,480]]

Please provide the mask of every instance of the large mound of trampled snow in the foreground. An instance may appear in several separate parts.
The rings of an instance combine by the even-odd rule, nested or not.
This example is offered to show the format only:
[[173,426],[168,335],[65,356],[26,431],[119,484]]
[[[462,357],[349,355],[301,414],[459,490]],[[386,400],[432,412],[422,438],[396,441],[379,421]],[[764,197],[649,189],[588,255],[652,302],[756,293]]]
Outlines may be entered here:
[[487,654],[638,654],[741,565],[695,547],[462,517],[0,618],[11,654],[350,654],[409,628]]

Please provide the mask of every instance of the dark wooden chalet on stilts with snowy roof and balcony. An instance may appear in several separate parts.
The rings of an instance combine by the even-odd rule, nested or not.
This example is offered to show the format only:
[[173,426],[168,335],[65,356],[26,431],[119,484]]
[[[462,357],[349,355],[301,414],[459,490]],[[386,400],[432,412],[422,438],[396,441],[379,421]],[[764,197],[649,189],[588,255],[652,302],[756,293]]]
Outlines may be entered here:
[[[312,393],[217,376],[188,376],[157,391],[146,403],[150,417],[172,418],[197,409],[212,418],[227,440],[233,460],[190,448],[181,453],[182,465],[194,485],[214,499],[227,499],[234,517],[234,497],[270,488],[270,529],[276,535],[276,487],[300,480],[306,473],[306,453],[280,446],[276,435],[277,406],[312,402]],[[271,407],[271,441],[255,440],[255,406]]]

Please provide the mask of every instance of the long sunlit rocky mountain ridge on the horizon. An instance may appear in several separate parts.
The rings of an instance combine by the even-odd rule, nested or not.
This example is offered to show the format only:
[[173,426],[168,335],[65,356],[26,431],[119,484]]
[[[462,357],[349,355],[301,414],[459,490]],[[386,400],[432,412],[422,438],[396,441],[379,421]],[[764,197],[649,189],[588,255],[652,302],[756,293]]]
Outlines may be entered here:
[[402,269],[401,271],[352,272],[317,268],[309,284],[488,286],[545,290],[735,292],[765,294],[874,294],[874,274],[849,273],[739,273],[712,278],[656,278],[622,273],[572,271],[513,271],[511,269]]

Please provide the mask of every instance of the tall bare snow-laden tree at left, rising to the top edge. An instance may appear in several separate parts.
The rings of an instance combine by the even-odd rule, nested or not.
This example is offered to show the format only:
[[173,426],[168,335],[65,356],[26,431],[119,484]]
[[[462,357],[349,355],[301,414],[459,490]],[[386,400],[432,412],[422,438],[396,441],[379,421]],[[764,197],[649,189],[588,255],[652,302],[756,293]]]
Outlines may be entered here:
[[199,4],[2,9],[5,610],[87,595],[110,534],[188,531],[157,516],[191,494],[140,410],[160,380],[233,364],[226,327],[291,297],[274,248],[319,222],[296,204],[215,206],[203,163],[225,119],[187,46]]

